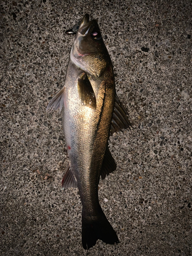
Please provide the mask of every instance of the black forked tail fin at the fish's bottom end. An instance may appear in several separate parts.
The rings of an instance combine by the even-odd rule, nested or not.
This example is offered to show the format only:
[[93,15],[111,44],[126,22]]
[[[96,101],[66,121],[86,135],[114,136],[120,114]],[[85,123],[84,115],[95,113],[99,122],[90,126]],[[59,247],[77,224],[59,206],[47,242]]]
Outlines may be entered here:
[[87,217],[82,211],[82,246],[84,249],[93,247],[98,239],[106,244],[119,243],[115,230],[101,208],[100,210],[100,214],[96,217]]

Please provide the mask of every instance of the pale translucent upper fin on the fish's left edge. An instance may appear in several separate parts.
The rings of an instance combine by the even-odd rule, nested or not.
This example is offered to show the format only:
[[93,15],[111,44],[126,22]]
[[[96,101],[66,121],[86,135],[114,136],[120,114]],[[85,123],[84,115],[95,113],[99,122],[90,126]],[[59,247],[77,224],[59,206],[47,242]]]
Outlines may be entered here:
[[62,105],[64,104],[64,98],[65,98],[65,86],[61,88],[61,90],[51,99],[49,102],[46,111],[51,112],[53,110],[57,110],[59,108],[59,111],[61,112]]

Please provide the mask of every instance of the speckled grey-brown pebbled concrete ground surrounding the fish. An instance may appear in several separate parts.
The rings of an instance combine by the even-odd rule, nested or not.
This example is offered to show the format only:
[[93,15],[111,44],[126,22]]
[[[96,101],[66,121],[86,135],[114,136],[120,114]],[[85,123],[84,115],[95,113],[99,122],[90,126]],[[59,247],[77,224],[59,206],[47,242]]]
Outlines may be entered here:
[[[60,189],[61,115],[46,113],[74,40],[63,32],[85,13],[133,123],[110,137],[118,167],[99,185],[120,243],[89,251],[77,189]],[[1,1],[1,255],[191,255],[191,13],[177,0]]]

